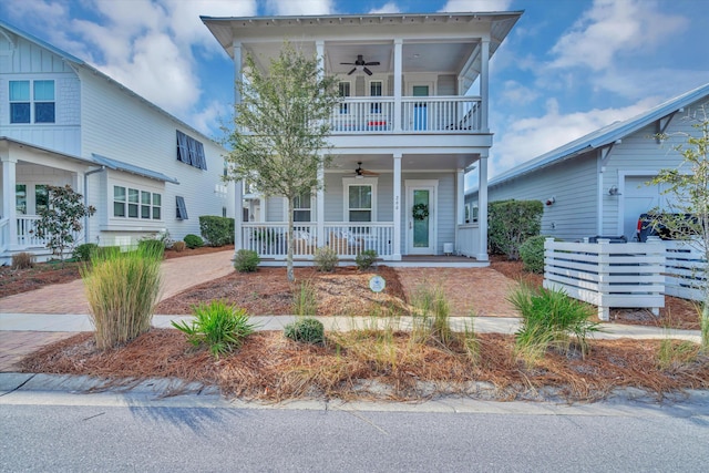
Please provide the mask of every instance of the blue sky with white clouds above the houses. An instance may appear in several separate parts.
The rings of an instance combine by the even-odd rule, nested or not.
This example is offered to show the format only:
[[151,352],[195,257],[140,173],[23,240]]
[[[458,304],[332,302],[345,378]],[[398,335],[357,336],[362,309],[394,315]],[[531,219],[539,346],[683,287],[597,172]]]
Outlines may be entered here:
[[217,136],[234,69],[201,14],[502,10],[525,12],[491,62],[491,176],[709,83],[707,0],[3,0],[0,18]]

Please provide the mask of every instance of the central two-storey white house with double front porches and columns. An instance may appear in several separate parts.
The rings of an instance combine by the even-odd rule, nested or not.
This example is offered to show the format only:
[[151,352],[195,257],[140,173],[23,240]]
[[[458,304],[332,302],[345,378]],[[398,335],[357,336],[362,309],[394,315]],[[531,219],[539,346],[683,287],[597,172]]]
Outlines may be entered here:
[[[373,249],[394,265],[487,264],[485,220],[463,220],[463,177],[477,166],[486,187],[489,61],[521,14],[202,18],[237,80],[246,54],[266,70],[286,39],[339,79],[333,165],[320,171],[325,191],[295,209],[300,264],[321,246],[345,259]],[[237,248],[284,264],[285,199],[264,199],[248,185],[237,194],[248,212],[236,215]],[[475,260],[442,258],[454,253]]]

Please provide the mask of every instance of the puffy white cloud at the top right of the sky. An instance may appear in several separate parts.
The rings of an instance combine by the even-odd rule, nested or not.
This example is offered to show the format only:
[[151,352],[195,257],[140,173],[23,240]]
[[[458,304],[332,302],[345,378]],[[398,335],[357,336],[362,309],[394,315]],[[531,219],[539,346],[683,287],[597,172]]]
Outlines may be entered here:
[[650,0],[595,0],[552,49],[554,68],[588,66],[595,71],[613,65],[621,54],[650,52],[660,41],[688,23],[684,17],[660,13]]

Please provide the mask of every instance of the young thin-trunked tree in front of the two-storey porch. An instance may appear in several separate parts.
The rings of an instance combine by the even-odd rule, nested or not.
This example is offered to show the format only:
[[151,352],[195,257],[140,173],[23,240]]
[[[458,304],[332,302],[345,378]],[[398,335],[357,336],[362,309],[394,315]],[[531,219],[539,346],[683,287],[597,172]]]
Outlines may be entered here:
[[[250,54],[245,79],[237,81],[234,131],[227,137],[227,178],[248,179],[264,196],[288,202],[288,280],[294,281],[294,203],[322,187],[318,169],[331,156],[329,119],[339,102],[336,78],[325,76],[319,60],[285,43],[266,71]],[[236,212],[240,212],[237,208]]]

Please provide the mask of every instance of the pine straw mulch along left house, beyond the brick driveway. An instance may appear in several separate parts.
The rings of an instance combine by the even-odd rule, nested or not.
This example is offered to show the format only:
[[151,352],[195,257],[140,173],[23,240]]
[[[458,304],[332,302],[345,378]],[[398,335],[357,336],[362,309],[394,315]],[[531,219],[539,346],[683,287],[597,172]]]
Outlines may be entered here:
[[[206,255],[229,249],[234,251],[234,245],[222,247],[203,246],[202,248],[194,249],[185,248],[184,251],[179,253],[168,249],[165,250],[165,259]],[[75,261],[65,261],[62,266],[59,260],[52,260],[48,263],[35,263],[33,267],[28,269],[13,269],[11,266],[0,266],[0,294],[2,297],[13,296],[53,284],[71,282],[81,278],[79,265],[80,264]]]

